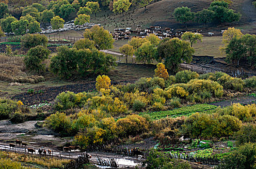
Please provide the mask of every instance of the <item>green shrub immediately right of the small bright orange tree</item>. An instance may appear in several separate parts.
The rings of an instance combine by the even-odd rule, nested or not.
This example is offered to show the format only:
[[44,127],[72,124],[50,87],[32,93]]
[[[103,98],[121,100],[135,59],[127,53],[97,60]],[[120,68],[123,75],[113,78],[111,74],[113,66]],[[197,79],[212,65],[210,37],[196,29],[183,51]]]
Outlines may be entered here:
[[197,79],[199,77],[199,74],[195,71],[191,70],[182,70],[176,73],[175,79],[176,83],[188,83],[192,79]]

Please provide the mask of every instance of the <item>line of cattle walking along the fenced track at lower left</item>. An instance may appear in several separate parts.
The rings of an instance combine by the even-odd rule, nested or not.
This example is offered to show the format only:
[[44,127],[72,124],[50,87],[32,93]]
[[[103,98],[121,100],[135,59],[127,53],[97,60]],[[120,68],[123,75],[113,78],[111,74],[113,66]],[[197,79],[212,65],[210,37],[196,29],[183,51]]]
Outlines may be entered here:
[[[19,146],[21,145],[21,147],[24,146],[25,149],[26,149],[26,146],[28,145],[28,143],[22,142],[20,140],[16,140],[15,144],[14,143],[9,144],[11,149],[16,148],[17,145],[19,145]],[[63,152],[72,152],[72,150],[74,150],[76,152],[76,150],[78,150],[78,149],[80,149],[79,146],[71,145],[71,146],[68,146],[68,147],[63,147]],[[28,150],[28,154],[29,153],[31,153],[31,154],[36,153],[35,149],[33,149],[33,148],[27,148],[27,150]],[[48,149],[48,150],[45,150],[45,149],[42,149],[42,148],[38,149],[39,155],[47,155],[47,152],[48,152],[48,155],[51,155],[51,150],[50,149]]]

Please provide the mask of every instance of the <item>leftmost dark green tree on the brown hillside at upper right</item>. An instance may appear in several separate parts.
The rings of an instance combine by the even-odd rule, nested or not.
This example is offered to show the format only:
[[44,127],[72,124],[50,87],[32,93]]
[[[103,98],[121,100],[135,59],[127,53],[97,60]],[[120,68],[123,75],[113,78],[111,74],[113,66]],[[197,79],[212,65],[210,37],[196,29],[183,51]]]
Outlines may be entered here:
[[174,17],[178,22],[183,23],[184,27],[187,28],[187,22],[193,20],[194,14],[188,7],[178,7],[174,10]]

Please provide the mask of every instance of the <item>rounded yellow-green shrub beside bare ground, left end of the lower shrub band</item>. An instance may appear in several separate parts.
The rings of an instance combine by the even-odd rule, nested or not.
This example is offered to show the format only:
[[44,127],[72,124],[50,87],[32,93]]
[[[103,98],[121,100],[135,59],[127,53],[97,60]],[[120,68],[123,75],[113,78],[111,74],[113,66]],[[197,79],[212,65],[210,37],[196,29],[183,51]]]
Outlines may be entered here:
[[66,116],[65,113],[55,113],[48,116],[45,120],[45,127],[51,128],[52,130],[59,132],[61,135],[68,135],[71,131],[71,118]]

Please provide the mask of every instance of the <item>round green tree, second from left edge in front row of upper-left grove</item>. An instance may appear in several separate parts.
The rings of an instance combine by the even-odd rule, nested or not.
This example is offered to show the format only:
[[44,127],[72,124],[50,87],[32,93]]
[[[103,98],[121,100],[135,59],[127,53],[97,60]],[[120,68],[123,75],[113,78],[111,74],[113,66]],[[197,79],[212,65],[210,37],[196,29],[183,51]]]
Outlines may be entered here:
[[27,33],[27,29],[28,29],[28,25],[29,25],[29,21],[27,21],[25,19],[20,19],[18,21],[13,21],[11,23],[12,31],[16,35],[24,35],[24,34],[26,34]]

